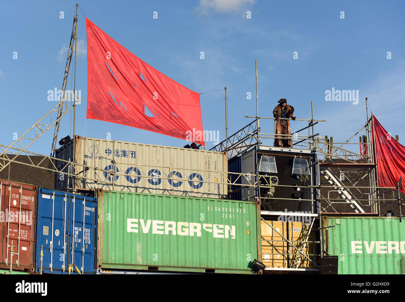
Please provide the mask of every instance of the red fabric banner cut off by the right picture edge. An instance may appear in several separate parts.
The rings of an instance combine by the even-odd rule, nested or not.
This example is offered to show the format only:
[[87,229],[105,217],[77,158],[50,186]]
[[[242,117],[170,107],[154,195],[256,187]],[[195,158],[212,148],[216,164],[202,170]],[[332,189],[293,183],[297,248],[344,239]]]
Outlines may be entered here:
[[[378,184],[382,187],[396,187],[399,178],[405,178],[405,147],[391,137],[374,115],[372,117]],[[403,188],[400,190],[404,192]]]

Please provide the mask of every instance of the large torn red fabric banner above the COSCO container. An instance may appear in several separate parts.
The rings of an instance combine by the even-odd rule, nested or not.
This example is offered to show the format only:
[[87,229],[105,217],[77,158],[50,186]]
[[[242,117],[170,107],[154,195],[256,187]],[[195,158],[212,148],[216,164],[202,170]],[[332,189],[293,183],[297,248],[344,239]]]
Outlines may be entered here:
[[205,145],[200,94],[146,64],[89,19],[86,27],[87,118]]

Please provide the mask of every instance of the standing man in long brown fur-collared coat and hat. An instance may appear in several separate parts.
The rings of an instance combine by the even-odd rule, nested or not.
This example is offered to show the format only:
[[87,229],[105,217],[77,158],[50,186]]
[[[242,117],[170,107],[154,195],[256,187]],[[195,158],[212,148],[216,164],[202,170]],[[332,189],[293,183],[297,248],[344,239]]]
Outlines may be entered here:
[[[290,121],[281,120],[282,118],[291,118],[295,121],[296,117],[292,115],[294,113],[294,107],[287,105],[286,99],[279,99],[279,105],[273,110],[273,115],[276,118],[276,133],[275,134],[288,134],[291,135]],[[291,136],[275,136],[275,147],[289,147],[292,148]]]

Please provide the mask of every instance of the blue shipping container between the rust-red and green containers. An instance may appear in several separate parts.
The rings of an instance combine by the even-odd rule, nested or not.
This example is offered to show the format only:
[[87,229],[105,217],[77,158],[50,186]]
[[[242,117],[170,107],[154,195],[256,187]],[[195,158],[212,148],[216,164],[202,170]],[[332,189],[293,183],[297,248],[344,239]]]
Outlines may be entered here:
[[[75,264],[83,274],[96,273],[97,198],[38,189],[35,271],[68,274]],[[76,269],[72,273],[77,274]]]

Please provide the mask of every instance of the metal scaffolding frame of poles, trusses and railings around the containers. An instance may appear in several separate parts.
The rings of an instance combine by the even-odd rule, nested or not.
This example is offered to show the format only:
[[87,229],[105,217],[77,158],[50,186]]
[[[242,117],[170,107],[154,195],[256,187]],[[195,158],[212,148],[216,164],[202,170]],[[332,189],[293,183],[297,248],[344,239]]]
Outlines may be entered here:
[[[72,34],[70,36],[70,45],[68,49],[68,57],[66,60],[66,68],[65,68],[65,73],[64,73],[64,80],[62,84],[62,91],[65,94],[66,91],[66,86],[67,86],[67,81],[68,81],[68,76],[69,76],[69,70],[70,70],[70,64],[73,56],[73,48],[75,47],[75,57],[76,57],[76,48],[77,48],[77,23],[78,23],[78,17],[77,17],[77,5],[76,5],[76,15],[73,21],[73,26],[72,26]],[[225,93],[226,93],[226,88],[225,88]],[[67,108],[64,110],[64,101],[68,97],[71,98],[73,96],[74,103],[72,107]],[[77,100],[77,102],[76,102]],[[324,185],[320,179],[318,179],[317,183],[319,185],[310,185],[307,186],[307,188],[315,188],[318,190],[319,194],[317,198],[312,198],[307,199],[308,201],[312,201],[314,204],[316,203],[318,207],[315,208],[320,208],[320,210],[326,210],[328,207],[331,207],[335,212],[338,212],[335,207],[339,203],[348,203],[353,206],[353,209],[357,209],[358,211],[363,210],[363,207],[370,207],[372,211],[375,213],[379,213],[379,190],[380,189],[392,189],[392,193],[394,194],[394,189],[398,192],[398,197],[395,199],[395,196],[393,195],[393,199],[388,199],[389,201],[394,201],[397,200],[399,201],[399,184],[396,188],[384,188],[384,187],[379,187],[378,186],[378,177],[377,177],[377,165],[375,164],[374,161],[374,149],[375,149],[375,142],[373,140],[372,132],[373,132],[373,120],[372,118],[369,118],[369,109],[368,109],[368,102],[366,98],[366,110],[367,110],[367,123],[365,126],[363,126],[359,131],[357,131],[351,138],[349,138],[347,141],[344,143],[341,143],[340,146],[337,146],[336,143],[335,145],[329,141],[326,137],[320,136],[319,133],[315,133],[315,125],[317,125],[319,122],[325,122],[325,120],[315,120],[314,119],[314,114],[313,114],[313,102],[311,102],[311,119],[296,119],[297,121],[306,121],[308,122],[308,125],[305,126],[304,128],[297,130],[296,132],[290,134],[290,135],[281,135],[281,134],[276,134],[275,131],[275,118],[274,117],[260,117],[259,116],[259,111],[258,111],[258,80],[257,80],[257,60],[256,60],[256,116],[245,116],[245,118],[252,118],[254,119],[252,122],[249,122],[245,127],[241,128],[234,134],[228,137],[228,124],[227,124],[227,96],[225,95],[225,100],[226,100],[226,139],[219,143],[218,145],[214,146],[213,148],[210,149],[210,151],[226,151],[228,152],[228,157],[232,158],[234,156],[240,155],[243,152],[253,148],[257,147],[259,148],[260,146],[262,147],[273,147],[271,144],[264,144],[264,142],[273,140],[275,139],[276,136],[280,137],[286,137],[286,138],[291,138],[293,141],[293,147],[292,148],[286,148],[286,149],[291,149],[291,150],[302,150],[302,149],[309,149],[313,151],[314,153],[318,155],[324,155],[324,159],[320,159],[318,156],[318,161],[316,163],[313,163],[315,165],[316,169],[316,174],[317,177],[320,178],[320,169],[325,171],[325,174],[328,175],[328,178],[332,183],[329,182],[329,185]],[[56,141],[58,138],[58,132],[59,132],[59,127],[60,127],[60,120],[66,113],[68,113],[71,109],[74,109],[79,103],[81,99],[76,94],[76,59],[75,59],[75,90],[73,92],[70,92],[67,96],[65,96],[63,99],[61,97],[60,102],[53,107],[47,114],[44,115],[36,124],[34,124],[29,130],[27,130],[22,136],[20,136],[17,141],[15,141],[12,145],[0,145],[1,153],[0,153],[0,171],[4,170],[6,166],[8,166],[10,163],[17,163],[17,164],[23,164],[26,166],[30,167],[35,167],[35,168],[40,168],[43,170],[47,170],[50,172],[54,173],[59,173],[59,174],[64,174],[65,176],[68,176],[72,179],[72,188],[68,187],[66,188],[67,190],[72,190],[75,193],[75,188],[78,185],[81,180],[90,180],[94,182],[94,188],[92,188],[94,191],[97,189],[98,184],[107,184],[107,185],[113,185],[114,186],[114,179],[116,175],[119,176],[131,176],[129,173],[124,174],[124,173],[116,173],[115,172],[115,167],[116,165],[124,164],[120,162],[116,162],[113,159],[111,160],[111,170],[103,170],[100,168],[92,167],[92,166],[86,166],[84,164],[80,164],[76,162],[76,159],[73,158],[73,161],[66,161],[63,159],[59,159],[55,157],[55,151],[56,151]],[[56,109],[58,107],[58,109]],[[53,117],[53,114],[56,114],[56,117]],[[50,122],[45,122],[47,119],[50,118]],[[264,133],[261,132],[260,128],[260,119],[262,120],[274,120],[274,133]],[[290,120],[290,119],[283,119],[283,120]],[[41,155],[38,153],[33,153],[28,151],[28,147],[32,145],[40,136],[42,136],[49,128],[52,126],[55,126],[55,131],[53,135],[53,141],[52,141],[52,147],[51,147],[51,155],[46,156],[46,155]],[[41,128],[42,127],[42,128]],[[44,128],[46,127],[46,128]],[[35,135],[32,134],[32,130],[35,130]],[[308,130],[308,134],[301,135],[298,133]],[[351,143],[351,139],[354,138],[357,134],[359,134],[362,130],[366,131],[366,137],[367,141],[360,142],[360,143]],[[75,139],[75,114],[74,114],[74,119],[73,119],[73,136]],[[29,140],[30,143],[24,144],[23,140]],[[354,151],[349,150],[350,147],[346,147],[346,145],[351,145],[351,144],[360,144],[362,147],[366,147],[367,152],[365,154],[360,154],[356,153]],[[74,143],[75,146],[75,143]],[[295,147],[294,147],[295,146]],[[346,148],[345,148],[346,147]],[[257,151],[256,148],[256,151]],[[7,153],[8,152],[8,153]],[[73,154],[75,156],[75,151],[73,151]],[[19,155],[26,155],[29,159],[29,162],[26,163],[21,160]],[[37,157],[41,156],[42,159],[35,164],[34,161],[32,160],[31,157]],[[49,166],[48,167],[42,167],[40,166],[46,159],[49,160]],[[341,160],[343,162],[337,162],[336,159]],[[335,161],[334,161],[335,160]],[[256,166],[258,166],[258,157],[256,156]],[[331,162],[329,162],[331,161]],[[364,161],[364,162],[358,162],[358,161]],[[56,165],[56,162],[62,163],[61,165]],[[352,166],[350,166],[352,165]],[[353,166],[356,165],[356,166]],[[134,164],[134,166],[138,167],[140,170],[143,170],[144,166],[147,165],[142,165],[142,164]],[[172,170],[193,170],[193,171],[199,171],[207,177],[207,180],[198,180],[199,182],[209,182],[212,184],[220,184],[220,185],[235,185],[235,186],[240,186],[242,187],[253,187],[255,188],[256,196],[254,196],[254,200],[260,204],[262,201],[266,200],[268,197],[261,197],[260,196],[260,189],[261,188],[272,188],[272,187],[277,187],[277,185],[272,185],[270,181],[267,181],[266,178],[262,175],[259,175],[259,172],[257,171],[257,174],[254,175],[255,177],[252,178],[250,177],[251,175],[248,174],[243,174],[243,173],[233,173],[233,172],[228,172],[228,171],[212,171],[212,170],[198,170],[198,169],[189,169],[189,168],[183,168],[183,167],[167,167],[167,166],[158,166],[154,165],[156,168],[169,168]],[[344,173],[345,178],[347,178],[347,182],[350,182],[352,186],[347,186],[341,179],[338,181],[336,177],[334,177],[334,172],[332,169],[334,167],[338,168],[338,173]],[[349,170],[349,168],[358,168],[358,171],[353,171]],[[87,176],[86,171],[89,171],[90,175],[94,175],[94,177]],[[78,172],[80,171],[80,172]],[[97,176],[98,171],[102,171],[109,175],[109,178],[111,179],[110,181],[107,180],[107,177],[100,178]],[[236,179],[233,181],[230,178],[230,175],[236,174]],[[356,184],[360,181],[356,181],[357,178],[350,177],[353,174],[356,174],[354,176],[361,176],[360,180],[364,178],[368,178],[369,180],[369,186],[356,186]],[[143,173],[139,175],[139,177],[147,177],[150,178],[151,176],[147,176],[146,173]],[[269,176],[270,177],[270,176]],[[170,179],[170,173],[164,173],[161,176],[153,176],[153,178],[160,178],[160,179]],[[239,184],[237,181],[239,179],[244,179],[247,183],[245,184]],[[220,179],[221,181],[218,182],[217,180]],[[262,182],[262,180],[265,180]],[[193,181],[192,179],[190,181]],[[279,185],[282,186],[282,185]],[[321,189],[327,189],[328,191],[328,196],[327,198],[322,195]],[[330,190],[328,189],[330,188]],[[365,194],[362,193],[359,189],[360,188],[366,188],[368,189],[369,193]],[[352,191],[356,191],[357,195],[360,193],[362,195],[368,195],[367,199],[358,199],[355,194]],[[339,197],[333,198],[330,197],[331,192],[338,192],[341,193]],[[384,196],[384,193],[383,193]],[[386,199],[387,200],[387,199]],[[324,203],[325,206],[322,206],[321,201],[325,201]],[[360,201],[368,201],[368,204],[366,203],[361,203]],[[335,207],[334,207],[335,206]],[[401,207],[401,203],[399,203],[399,206]],[[356,211],[356,210],[355,210]],[[292,256],[292,261],[289,262],[288,267],[285,268],[269,268],[269,271],[305,271],[305,270],[311,270],[307,268],[302,268],[300,267],[301,264],[304,262],[304,260],[308,260],[311,262],[316,269],[319,268],[319,258],[323,256],[323,248],[322,248],[322,234],[321,234],[321,229],[322,229],[322,218],[320,216],[320,211],[313,211],[314,213],[307,214],[307,216],[310,217],[310,226],[307,229],[307,231],[303,234],[302,240],[290,240],[286,238],[285,236],[281,235],[275,229],[272,227],[269,223],[266,222],[266,220],[263,218],[268,217],[268,216],[299,216],[299,213],[288,213],[288,212],[265,212],[261,211],[260,212],[260,220],[264,221],[266,224],[268,224],[273,231],[278,233],[283,240],[291,246],[296,253],[285,253],[287,256]],[[401,208],[400,208],[400,213],[401,213]],[[305,215],[305,214],[303,214]],[[401,215],[401,214],[400,214]],[[318,221],[318,228],[314,229],[315,222]],[[309,235],[313,232],[313,254],[305,253],[305,247],[311,242],[308,241]],[[318,232],[318,233],[317,233]],[[315,236],[315,234],[318,234],[319,240],[317,239],[318,237]],[[273,240],[274,241],[274,240]],[[315,245],[318,245],[318,251],[319,253],[315,252]],[[259,244],[259,246],[261,246]],[[259,254],[261,254],[259,252]],[[267,268],[266,268],[267,270]]]

